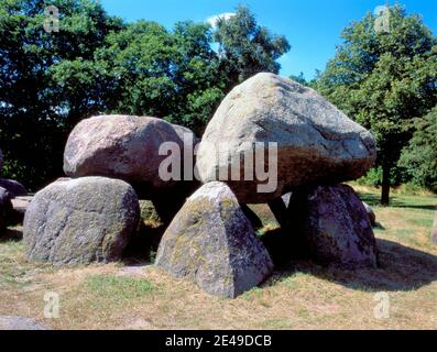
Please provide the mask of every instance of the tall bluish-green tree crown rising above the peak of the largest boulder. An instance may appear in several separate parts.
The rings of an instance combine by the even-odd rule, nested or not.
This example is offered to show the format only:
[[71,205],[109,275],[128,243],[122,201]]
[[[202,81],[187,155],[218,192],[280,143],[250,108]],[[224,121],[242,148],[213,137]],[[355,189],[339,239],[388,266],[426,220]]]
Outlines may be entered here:
[[230,89],[260,72],[277,74],[277,59],[291,48],[283,35],[271,34],[243,6],[230,19],[220,18],[214,40],[219,44],[220,69]]

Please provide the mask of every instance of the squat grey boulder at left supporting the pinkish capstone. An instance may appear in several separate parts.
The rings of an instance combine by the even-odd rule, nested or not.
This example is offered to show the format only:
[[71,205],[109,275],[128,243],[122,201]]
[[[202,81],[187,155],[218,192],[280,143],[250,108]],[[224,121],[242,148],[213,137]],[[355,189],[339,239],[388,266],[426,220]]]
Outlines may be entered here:
[[24,217],[32,261],[83,264],[120,260],[140,217],[136,195],[118,179],[84,177],[39,191]]

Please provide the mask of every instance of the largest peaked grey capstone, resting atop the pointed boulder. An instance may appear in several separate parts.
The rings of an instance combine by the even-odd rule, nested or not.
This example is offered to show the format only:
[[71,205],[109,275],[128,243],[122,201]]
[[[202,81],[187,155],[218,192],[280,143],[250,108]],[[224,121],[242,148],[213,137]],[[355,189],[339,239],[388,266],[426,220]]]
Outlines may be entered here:
[[[262,151],[267,151],[267,142],[277,143],[278,185],[273,193],[258,191],[256,186],[265,182],[218,177],[219,172],[227,175],[231,164],[247,176],[244,163],[238,160],[256,142],[265,143]],[[302,185],[359,178],[373,165],[375,154],[371,133],[315,90],[273,74],[258,74],[221,102],[200,142],[197,168],[204,183],[227,182],[241,202],[256,204]]]

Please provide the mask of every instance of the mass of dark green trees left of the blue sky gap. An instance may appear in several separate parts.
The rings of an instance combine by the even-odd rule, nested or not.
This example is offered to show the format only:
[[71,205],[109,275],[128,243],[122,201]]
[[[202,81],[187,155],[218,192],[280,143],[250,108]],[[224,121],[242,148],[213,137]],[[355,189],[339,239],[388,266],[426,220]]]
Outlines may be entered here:
[[[47,6],[59,9],[57,33],[44,31]],[[212,35],[220,55],[211,48]],[[287,48],[245,8],[214,33],[190,21],[172,31],[155,22],[125,24],[95,0],[3,0],[3,176],[31,190],[62,176],[67,135],[92,114],[153,116],[200,135],[228,90],[254,73],[277,72],[276,59]]]

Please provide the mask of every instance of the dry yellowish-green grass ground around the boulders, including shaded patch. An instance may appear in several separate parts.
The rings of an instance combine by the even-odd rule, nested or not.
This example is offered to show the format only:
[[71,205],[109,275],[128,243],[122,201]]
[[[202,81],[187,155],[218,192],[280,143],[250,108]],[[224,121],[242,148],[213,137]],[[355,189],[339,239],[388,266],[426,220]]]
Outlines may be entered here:
[[[437,329],[437,246],[430,226],[437,197],[356,186],[374,208],[381,266],[346,271],[288,262],[234,300],[203,293],[150,264],[57,268],[23,260],[20,228],[0,238],[0,315],[32,317],[55,329]],[[275,222],[263,206],[264,232]],[[44,294],[59,294],[58,319],[44,318]],[[378,293],[390,318],[378,319]]]

